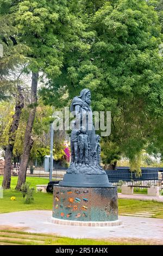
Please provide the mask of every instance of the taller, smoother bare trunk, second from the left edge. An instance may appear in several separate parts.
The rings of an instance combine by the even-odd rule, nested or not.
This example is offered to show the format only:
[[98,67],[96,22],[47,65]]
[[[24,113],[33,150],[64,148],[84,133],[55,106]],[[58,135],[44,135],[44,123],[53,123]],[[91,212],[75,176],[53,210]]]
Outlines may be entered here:
[[35,119],[36,107],[37,107],[37,83],[39,78],[39,72],[32,73],[32,86],[31,86],[31,107],[29,111],[29,117],[26,126],[26,132],[24,136],[23,154],[21,156],[20,170],[18,173],[18,181],[16,190],[20,190],[24,182],[26,182],[26,172],[28,166],[28,160],[30,150],[33,146],[32,128]]

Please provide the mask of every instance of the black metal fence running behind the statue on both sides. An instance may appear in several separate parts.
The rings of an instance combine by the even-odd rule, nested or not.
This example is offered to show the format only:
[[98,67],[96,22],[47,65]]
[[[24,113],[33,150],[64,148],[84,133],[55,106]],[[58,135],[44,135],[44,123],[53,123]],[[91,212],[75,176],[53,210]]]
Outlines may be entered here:
[[[11,175],[18,176],[20,166],[15,164],[12,166]],[[4,173],[4,165],[0,164],[0,175]],[[52,178],[53,180],[62,180],[66,168],[54,168]],[[137,186],[160,186],[163,188],[163,172],[159,172],[157,169],[143,169],[140,177],[136,176],[136,173],[131,173],[128,170],[106,170],[108,179],[113,185],[122,186],[126,185],[137,185]],[[43,167],[29,167],[27,168],[27,176],[49,178],[49,172],[46,172]]]

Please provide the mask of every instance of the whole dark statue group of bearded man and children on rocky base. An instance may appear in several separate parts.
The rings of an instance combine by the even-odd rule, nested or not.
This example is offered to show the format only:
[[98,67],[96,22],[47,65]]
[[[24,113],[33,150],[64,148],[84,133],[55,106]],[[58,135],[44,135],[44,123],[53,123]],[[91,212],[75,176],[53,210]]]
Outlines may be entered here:
[[75,120],[71,132],[71,165],[67,169],[70,174],[106,174],[100,166],[100,138],[95,134],[90,104],[89,89],[83,89],[71,103]]

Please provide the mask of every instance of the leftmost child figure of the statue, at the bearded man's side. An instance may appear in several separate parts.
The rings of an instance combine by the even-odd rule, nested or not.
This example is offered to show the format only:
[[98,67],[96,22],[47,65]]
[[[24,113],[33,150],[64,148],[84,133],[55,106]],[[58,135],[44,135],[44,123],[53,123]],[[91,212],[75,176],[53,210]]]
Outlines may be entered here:
[[71,164],[78,166],[78,135],[79,130],[76,127],[76,121],[72,122],[73,129],[71,132]]

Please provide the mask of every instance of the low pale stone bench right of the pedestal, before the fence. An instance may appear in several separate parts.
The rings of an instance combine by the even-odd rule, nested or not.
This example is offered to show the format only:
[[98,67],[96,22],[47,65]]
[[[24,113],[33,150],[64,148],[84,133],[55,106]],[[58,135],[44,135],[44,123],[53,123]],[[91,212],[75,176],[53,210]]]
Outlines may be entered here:
[[159,197],[159,187],[155,186],[136,186],[136,185],[122,185],[122,194],[134,194],[134,187],[147,188],[147,194],[151,197]]

